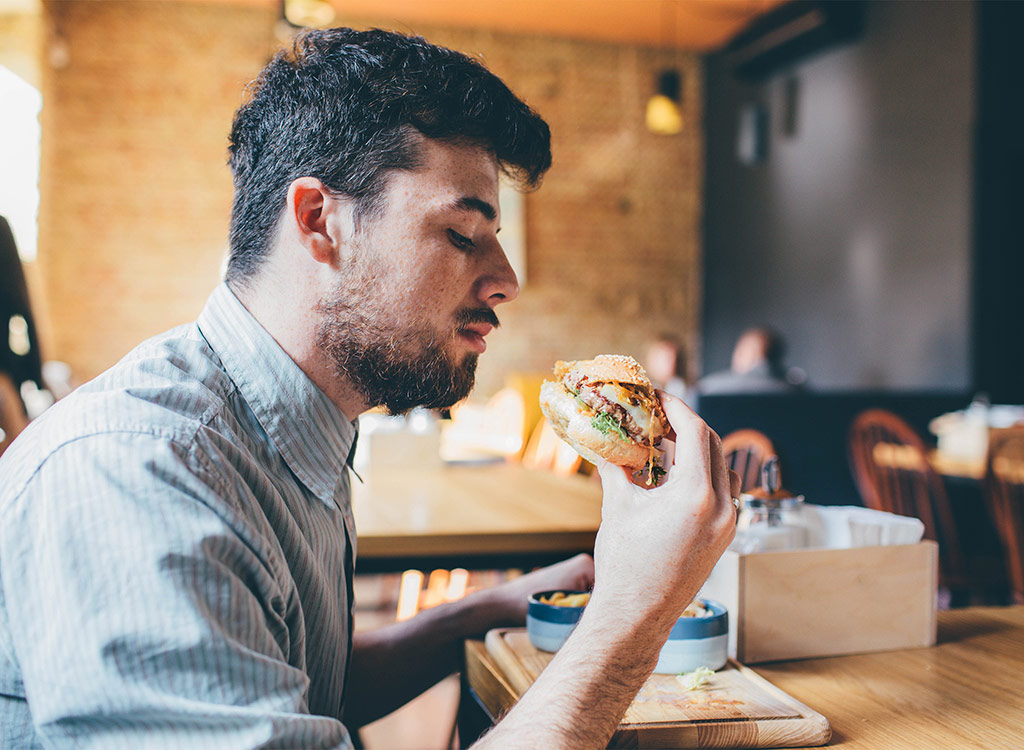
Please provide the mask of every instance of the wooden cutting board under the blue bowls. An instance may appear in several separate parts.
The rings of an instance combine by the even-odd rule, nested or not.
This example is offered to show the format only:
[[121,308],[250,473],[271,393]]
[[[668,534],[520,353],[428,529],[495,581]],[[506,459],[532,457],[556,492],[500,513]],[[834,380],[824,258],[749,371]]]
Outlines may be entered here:
[[[484,642],[516,699],[554,658],[535,649],[523,628],[492,630]],[[824,716],[730,661],[708,685],[693,691],[675,675],[652,674],[609,747],[809,747],[824,745],[830,737]]]

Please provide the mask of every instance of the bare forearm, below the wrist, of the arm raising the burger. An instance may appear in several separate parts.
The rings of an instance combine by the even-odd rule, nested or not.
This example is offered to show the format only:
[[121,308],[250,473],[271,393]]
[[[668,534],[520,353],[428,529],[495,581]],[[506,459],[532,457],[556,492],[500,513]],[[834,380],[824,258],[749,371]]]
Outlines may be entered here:
[[[596,617],[588,619],[591,614]],[[664,625],[629,624],[601,617],[596,609],[588,612],[551,664],[474,750],[606,747],[653,671],[667,636]]]

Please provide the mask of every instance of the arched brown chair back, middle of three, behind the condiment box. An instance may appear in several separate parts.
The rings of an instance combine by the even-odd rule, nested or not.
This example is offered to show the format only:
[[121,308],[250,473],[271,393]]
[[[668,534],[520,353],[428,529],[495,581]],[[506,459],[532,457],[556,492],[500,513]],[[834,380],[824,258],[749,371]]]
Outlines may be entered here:
[[924,441],[901,417],[869,409],[854,419],[848,435],[850,469],[869,508],[920,518],[925,538],[939,543],[945,581],[964,572],[949,498],[928,462]]

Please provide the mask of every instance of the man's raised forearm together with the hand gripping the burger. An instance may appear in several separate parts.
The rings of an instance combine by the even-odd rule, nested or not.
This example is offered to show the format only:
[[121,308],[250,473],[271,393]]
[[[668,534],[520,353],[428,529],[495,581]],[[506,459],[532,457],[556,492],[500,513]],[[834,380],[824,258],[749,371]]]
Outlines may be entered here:
[[721,441],[678,400],[663,403],[676,432],[666,481],[643,490],[629,470],[598,466],[604,498],[590,603],[478,750],[606,747],[679,614],[732,540],[739,477],[726,466]]

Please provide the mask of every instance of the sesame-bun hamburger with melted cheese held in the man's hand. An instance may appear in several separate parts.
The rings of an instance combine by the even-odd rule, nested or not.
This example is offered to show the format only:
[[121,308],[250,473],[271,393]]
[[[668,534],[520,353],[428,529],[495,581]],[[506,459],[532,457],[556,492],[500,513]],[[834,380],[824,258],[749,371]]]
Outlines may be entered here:
[[654,447],[669,431],[647,373],[622,355],[555,363],[555,380],[541,385],[541,411],[588,461],[632,469],[653,469]]

